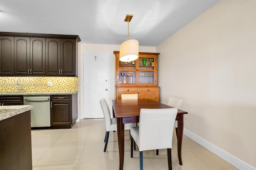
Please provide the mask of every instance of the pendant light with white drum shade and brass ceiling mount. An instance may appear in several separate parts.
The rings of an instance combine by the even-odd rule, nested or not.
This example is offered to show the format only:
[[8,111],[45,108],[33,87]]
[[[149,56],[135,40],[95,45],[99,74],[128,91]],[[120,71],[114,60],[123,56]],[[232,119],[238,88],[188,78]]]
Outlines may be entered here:
[[124,21],[128,22],[128,40],[120,45],[119,60],[123,62],[134,61],[139,56],[139,41],[136,39],[129,39],[129,22],[133,15],[126,15]]

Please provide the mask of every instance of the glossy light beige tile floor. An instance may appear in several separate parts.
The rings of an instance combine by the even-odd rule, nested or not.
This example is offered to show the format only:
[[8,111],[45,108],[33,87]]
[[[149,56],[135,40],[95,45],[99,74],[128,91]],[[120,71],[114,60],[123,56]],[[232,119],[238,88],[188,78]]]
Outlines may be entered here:
[[[117,132],[110,132],[104,149],[104,119],[82,119],[72,129],[32,130],[33,170],[118,170]],[[173,170],[237,170],[234,166],[183,136],[182,161],[178,163],[177,138],[173,135]],[[139,151],[130,158],[129,131],[125,131],[124,170],[139,170]],[[144,170],[168,170],[167,150],[143,152]]]

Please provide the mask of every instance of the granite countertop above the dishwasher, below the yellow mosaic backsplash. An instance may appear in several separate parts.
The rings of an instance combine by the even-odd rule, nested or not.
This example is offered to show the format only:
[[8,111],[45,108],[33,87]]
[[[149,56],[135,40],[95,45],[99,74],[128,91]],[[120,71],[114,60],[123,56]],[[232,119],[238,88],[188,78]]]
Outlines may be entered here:
[[0,96],[8,95],[72,95],[78,92],[0,92]]

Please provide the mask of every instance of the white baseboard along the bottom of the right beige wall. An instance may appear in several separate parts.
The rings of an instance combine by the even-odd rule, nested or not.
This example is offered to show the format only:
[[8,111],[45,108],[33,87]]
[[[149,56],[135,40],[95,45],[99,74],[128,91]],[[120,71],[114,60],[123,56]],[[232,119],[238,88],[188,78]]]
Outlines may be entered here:
[[205,139],[202,139],[198,135],[188,131],[187,129],[184,128],[183,131],[184,135],[195,141],[196,143],[199,143],[206,149],[210,150],[212,153],[216,154],[220,158],[226,160],[228,163],[232,164],[239,170],[256,170],[255,167],[247,164],[246,162],[236,158],[232,154],[226,152],[225,150],[220,149],[219,147],[213,145],[212,143],[206,141]]

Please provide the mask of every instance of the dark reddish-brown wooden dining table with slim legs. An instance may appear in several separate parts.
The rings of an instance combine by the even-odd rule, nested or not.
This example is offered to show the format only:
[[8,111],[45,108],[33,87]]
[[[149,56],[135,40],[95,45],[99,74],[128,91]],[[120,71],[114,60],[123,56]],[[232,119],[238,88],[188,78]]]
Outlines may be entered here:
[[[124,123],[138,123],[140,118],[140,109],[162,109],[172,108],[171,106],[156,102],[150,99],[139,100],[112,100],[113,116],[117,119],[118,148],[119,148],[119,170],[123,170],[124,166]],[[183,135],[184,114],[188,112],[178,109],[176,120],[178,121],[177,143],[178,143],[178,159],[182,165],[181,149]],[[173,129],[170,129],[172,131]]]

